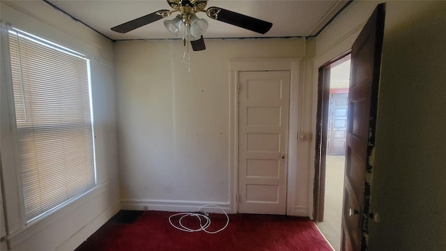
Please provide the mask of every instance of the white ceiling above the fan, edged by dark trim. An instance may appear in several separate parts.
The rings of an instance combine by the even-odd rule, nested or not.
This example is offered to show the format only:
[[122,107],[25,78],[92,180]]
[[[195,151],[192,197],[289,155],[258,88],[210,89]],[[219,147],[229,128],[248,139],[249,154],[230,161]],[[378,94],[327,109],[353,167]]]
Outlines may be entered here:
[[[171,9],[166,0],[47,0],[52,5],[91,26],[112,40],[174,38],[164,27],[162,20],[153,22],[125,34],[110,28],[157,10]],[[237,13],[272,22],[272,29],[262,35],[231,24],[211,20],[206,13],[198,13],[209,23],[204,38],[256,38],[256,37],[303,37],[314,36],[327,24],[348,1],[222,1],[209,0],[206,8],[217,6]],[[173,19],[174,15],[167,17]]]

